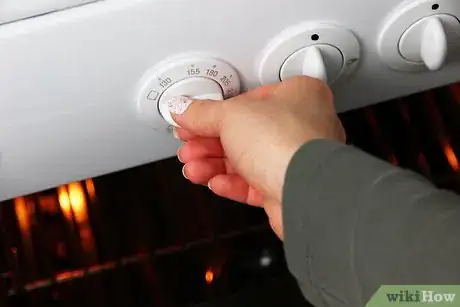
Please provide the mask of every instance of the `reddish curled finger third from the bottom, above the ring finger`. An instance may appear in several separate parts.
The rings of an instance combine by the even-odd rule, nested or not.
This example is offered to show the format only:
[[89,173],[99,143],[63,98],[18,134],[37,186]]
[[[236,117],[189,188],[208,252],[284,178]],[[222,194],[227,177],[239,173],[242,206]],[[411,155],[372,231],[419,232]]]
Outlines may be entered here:
[[185,143],[177,152],[182,163],[204,158],[223,158],[224,149],[217,138],[195,138]]

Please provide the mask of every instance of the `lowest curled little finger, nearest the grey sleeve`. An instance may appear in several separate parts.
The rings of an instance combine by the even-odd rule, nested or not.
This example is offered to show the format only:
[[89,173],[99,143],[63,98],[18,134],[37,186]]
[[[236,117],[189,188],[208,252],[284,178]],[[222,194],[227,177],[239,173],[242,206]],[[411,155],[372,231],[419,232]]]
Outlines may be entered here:
[[263,207],[262,195],[238,175],[217,175],[209,181],[208,185],[216,195],[251,206]]

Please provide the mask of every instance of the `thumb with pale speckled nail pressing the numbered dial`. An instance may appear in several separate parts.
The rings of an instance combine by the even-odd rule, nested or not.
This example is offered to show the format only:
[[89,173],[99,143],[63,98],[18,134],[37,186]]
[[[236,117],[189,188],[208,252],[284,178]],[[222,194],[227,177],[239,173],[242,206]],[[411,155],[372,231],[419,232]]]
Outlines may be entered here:
[[168,101],[168,110],[179,127],[204,137],[220,136],[224,118],[222,100],[194,100],[179,96]]

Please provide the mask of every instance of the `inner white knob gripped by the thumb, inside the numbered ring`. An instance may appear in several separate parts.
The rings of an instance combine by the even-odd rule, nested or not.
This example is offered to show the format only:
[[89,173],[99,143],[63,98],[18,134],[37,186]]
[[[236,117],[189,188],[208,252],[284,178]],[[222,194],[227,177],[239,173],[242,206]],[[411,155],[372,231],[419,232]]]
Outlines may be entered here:
[[166,120],[168,124],[176,127],[178,127],[178,125],[171,117],[168,102],[173,97],[177,96],[187,96],[192,99],[224,99],[224,93],[219,83],[208,78],[189,78],[175,83],[163,93],[158,103],[158,107],[164,120]]

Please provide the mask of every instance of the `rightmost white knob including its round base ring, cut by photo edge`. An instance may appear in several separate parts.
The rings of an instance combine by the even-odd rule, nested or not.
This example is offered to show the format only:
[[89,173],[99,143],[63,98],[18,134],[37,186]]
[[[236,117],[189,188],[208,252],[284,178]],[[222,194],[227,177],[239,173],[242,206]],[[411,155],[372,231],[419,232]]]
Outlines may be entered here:
[[401,1],[382,24],[378,52],[391,69],[437,71],[458,61],[460,1]]

